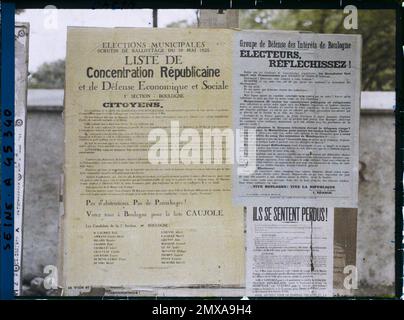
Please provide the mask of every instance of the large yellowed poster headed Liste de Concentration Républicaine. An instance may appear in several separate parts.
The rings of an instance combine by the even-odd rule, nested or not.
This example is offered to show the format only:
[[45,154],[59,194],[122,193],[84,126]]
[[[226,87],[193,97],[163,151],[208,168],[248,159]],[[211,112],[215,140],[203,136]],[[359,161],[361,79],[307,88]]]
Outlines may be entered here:
[[[231,37],[229,30],[68,29],[67,292],[243,285],[243,211],[232,205],[231,165],[187,164],[187,141],[178,140],[184,128],[196,129],[200,144],[203,129],[231,128]],[[151,135],[156,128],[167,133],[167,163],[149,161],[164,136]]]

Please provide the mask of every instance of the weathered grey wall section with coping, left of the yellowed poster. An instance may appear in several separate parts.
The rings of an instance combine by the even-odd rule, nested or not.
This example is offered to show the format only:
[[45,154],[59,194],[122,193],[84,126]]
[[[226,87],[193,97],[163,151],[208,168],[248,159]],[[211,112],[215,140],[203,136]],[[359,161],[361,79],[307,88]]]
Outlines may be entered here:
[[[49,90],[47,90],[49,91]],[[63,90],[60,90],[63,94]],[[63,120],[56,92],[28,97],[26,185],[24,201],[23,279],[40,275],[46,265],[56,265],[58,248],[59,179],[63,170]],[[57,94],[57,93],[56,93]],[[47,99],[49,101],[47,101]],[[47,103],[48,102],[48,103]],[[32,107],[32,104],[35,107]],[[48,110],[48,111],[47,111]]]

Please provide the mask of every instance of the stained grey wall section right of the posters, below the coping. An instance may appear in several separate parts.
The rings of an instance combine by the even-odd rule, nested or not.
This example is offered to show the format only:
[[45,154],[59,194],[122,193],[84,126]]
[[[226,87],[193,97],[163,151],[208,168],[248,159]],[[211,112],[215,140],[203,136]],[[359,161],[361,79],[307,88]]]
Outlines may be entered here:
[[394,114],[361,114],[359,293],[394,294]]

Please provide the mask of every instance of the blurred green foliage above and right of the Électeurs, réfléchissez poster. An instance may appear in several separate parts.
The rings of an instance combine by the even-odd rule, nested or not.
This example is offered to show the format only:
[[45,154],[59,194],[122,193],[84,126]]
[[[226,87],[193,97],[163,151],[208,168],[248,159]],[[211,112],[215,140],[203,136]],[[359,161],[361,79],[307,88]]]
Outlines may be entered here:
[[302,30],[362,35],[362,90],[395,89],[395,12],[358,10],[358,30],[346,30],[343,10],[244,10],[243,29]]

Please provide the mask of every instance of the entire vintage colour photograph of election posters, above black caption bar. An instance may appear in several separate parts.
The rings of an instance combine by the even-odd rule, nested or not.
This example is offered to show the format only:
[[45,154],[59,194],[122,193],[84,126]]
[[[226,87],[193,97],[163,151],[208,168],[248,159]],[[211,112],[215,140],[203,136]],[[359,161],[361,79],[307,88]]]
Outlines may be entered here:
[[1,9],[5,297],[400,299],[402,8]]

